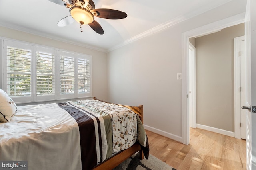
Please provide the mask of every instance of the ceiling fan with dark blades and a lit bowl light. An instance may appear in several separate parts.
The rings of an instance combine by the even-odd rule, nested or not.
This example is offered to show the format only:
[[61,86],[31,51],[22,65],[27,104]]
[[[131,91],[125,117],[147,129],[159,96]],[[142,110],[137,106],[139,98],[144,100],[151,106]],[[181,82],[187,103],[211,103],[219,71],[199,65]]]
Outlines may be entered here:
[[127,14],[122,11],[100,8],[95,9],[94,2],[92,0],[49,0],[61,6],[69,8],[70,16],[62,18],[57,25],[64,27],[77,21],[80,23],[82,32],[82,25],[88,24],[96,33],[104,34],[104,31],[100,24],[94,20],[94,16],[106,19],[123,19],[127,17]]

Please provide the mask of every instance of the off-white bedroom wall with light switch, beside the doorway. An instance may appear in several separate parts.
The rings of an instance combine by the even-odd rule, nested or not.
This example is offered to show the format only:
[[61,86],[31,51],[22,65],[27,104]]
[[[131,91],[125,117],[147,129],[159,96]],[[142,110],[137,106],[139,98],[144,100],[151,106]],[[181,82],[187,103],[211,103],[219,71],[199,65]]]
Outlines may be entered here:
[[245,12],[233,0],[108,53],[108,101],[144,105],[146,129],[182,141],[182,33]]

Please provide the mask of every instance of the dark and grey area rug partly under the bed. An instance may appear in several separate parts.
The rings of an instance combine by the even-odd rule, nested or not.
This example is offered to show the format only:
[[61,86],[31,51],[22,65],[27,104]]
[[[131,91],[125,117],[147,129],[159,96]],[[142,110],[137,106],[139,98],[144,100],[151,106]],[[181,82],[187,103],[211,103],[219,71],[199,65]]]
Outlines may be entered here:
[[148,159],[140,160],[139,153],[132,155],[122,164],[118,165],[113,170],[176,170],[160,159],[149,155]]

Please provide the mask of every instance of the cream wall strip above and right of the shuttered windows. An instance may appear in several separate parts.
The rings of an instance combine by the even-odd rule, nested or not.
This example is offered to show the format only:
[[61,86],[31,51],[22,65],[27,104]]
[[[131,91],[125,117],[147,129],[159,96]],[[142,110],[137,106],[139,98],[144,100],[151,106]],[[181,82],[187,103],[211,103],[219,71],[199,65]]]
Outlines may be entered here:
[[38,45],[54,47],[57,49],[76,51],[78,53],[92,55],[92,96],[96,96],[97,98],[100,98],[102,100],[107,100],[108,79],[107,57],[105,52],[96,51],[85,47],[80,47],[77,45],[72,45],[61,41],[40,37],[37,35],[17,31],[14,29],[9,29],[6,27],[0,27],[0,37],[16,39],[20,41],[26,41],[29,43],[35,43]]

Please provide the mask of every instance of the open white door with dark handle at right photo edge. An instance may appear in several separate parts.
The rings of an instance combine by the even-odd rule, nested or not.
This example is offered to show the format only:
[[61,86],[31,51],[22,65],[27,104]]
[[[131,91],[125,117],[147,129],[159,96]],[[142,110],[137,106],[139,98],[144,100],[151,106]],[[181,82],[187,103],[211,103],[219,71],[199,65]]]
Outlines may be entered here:
[[[246,106],[256,106],[256,1],[247,0],[245,16]],[[252,106],[251,106],[252,105]],[[256,170],[256,113],[246,109],[246,168]]]

